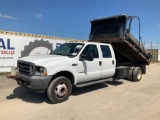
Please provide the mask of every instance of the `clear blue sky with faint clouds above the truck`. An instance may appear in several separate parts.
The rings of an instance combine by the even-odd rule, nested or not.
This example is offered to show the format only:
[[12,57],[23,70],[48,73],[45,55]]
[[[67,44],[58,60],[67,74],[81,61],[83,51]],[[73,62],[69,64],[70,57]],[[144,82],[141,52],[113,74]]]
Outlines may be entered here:
[[[88,40],[95,18],[127,14],[141,20],[146,48],[160,49],[159,0],[0,0],[0,30]],[[138,20],[131,33],[138,38]]]

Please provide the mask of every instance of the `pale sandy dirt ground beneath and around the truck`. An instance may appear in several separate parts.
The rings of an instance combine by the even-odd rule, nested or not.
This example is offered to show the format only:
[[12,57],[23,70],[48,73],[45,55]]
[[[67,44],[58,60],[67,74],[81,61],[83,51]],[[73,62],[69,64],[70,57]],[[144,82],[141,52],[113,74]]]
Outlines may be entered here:
[[53,104],[45,94],[0,76],[0,120],[159,120],[160,63],[147,66],[140,82],[119,80],[74,88]]

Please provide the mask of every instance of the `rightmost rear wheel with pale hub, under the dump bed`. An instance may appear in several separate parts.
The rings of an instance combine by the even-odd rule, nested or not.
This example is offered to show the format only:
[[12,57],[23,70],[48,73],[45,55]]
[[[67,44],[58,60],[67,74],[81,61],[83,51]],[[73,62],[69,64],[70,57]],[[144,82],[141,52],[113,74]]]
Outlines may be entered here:
[[142,78],[142,68],[141,67],[135,67],[133,69],[133,81],[138,82]]

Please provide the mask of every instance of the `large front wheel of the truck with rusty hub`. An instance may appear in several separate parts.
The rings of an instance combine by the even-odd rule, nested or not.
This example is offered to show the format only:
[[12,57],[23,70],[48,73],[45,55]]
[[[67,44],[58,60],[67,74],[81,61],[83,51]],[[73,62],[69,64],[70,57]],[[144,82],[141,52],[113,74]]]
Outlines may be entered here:
[[48,89],[48,98],[54,103],[60,103],[68,100],[72,91],[72,84],[66,77],[58,77],[54,79]]

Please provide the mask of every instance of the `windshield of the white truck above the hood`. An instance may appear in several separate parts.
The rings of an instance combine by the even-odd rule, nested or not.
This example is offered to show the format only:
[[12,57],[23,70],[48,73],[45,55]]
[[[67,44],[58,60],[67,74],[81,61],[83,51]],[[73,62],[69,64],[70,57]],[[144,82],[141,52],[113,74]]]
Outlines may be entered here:
[[55,50],[53,50],[50,54],[76,56],[83,46],[83,43],[64,43]]

